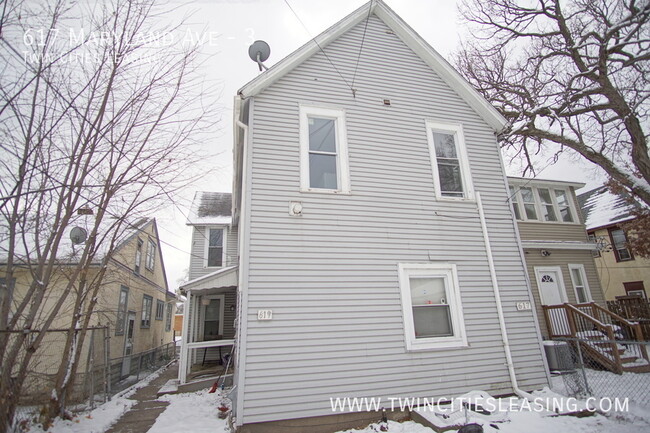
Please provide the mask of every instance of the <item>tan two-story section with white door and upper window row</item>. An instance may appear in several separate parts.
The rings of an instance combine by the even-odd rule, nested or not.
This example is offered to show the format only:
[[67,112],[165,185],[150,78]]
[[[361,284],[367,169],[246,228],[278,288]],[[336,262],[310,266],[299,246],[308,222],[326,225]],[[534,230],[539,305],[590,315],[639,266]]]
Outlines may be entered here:
[[[509,177],[510,202],[526,256],[537,314],[542,306],[586,304],[605,306],[593,253],[578,208],[575,190],[584,184]],[[549,337],[546,320],[542,335]]]

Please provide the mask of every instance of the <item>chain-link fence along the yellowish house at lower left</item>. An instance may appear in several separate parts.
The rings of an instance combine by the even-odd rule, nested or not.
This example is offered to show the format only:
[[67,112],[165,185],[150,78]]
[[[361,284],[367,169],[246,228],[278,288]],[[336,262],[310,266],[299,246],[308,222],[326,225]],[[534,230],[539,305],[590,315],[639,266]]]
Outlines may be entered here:
[[[76,330],[79,334],[81,330]],[[33,338],[36,337],[33,332]],[[12,426],[14,432],[25,431],[39,422],[39,413],[50,399],[69,330],[45,331],[42,342],[32,355],[27,375],[20,389],[18,407]],[[10,333],[9,346],[18,333]],[[33,338],[27,338],[25,350]],[[80,351],[77,372],[73,376],[72,391],[68,394],[66,409],[78,412],[92,409],[106,402],[116,393],[128,388],[148,374],[168,364],[176,357],[176,344],[171,342],[132,355],[110,358],[110,333],[107,327],[88,328]],[[17,371],[18,365],[15,366]],[[12,371],[12,376],[14,372]],[[0,420],[2,422],[2,420]]]

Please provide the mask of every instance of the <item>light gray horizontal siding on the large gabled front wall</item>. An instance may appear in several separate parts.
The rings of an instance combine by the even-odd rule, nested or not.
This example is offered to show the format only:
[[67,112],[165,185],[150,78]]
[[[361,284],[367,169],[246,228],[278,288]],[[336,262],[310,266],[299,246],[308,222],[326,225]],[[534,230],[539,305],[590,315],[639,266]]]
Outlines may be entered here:
[[[348,82],[363,30],[326,48]],[[532,299],[494,133],[388,30],[370,19],[356,99],[322,53],[254,99],[244,423],[331,414],[337,396],[512,392],[476,204],[436,201],[425,118],[463,123],[519,384],[547,384],[532,312],[515,308]],[[299,102],[346,110],[350,195],[299,192]],[[397,264],[428,261],[458,266],[470,348],[405,351]]]

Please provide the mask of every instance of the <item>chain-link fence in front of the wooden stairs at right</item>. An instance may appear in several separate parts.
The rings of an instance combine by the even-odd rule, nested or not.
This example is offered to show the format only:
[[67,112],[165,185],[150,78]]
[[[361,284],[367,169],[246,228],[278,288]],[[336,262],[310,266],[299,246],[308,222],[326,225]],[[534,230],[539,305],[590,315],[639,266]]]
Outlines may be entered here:
[[[557,339],[547,350],[549,367],[561,374],[564,391],[578,398],[628,398],[650,407],[650,342],[624,340]],[[611,347],[611,349],[610,349]],[[595,348],[595,349],[594,349]],[[594,354],[611,355],[617,350],[621,361],[619,372],[612,372]]]

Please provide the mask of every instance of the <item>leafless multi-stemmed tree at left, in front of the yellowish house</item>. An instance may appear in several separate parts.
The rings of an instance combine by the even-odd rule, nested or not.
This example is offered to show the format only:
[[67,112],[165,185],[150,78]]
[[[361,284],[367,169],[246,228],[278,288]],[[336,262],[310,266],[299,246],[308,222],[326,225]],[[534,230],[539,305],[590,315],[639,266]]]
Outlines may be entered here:
[[[154,0],[7,0],[0,12],[3,433],[34,353],[72,305],[46,422],[64,412],[106,260],[126,229],[192,180],[194,145],[212,123],[198,47],[161,24]],[[88,231],[77,247],[74,226]]]

